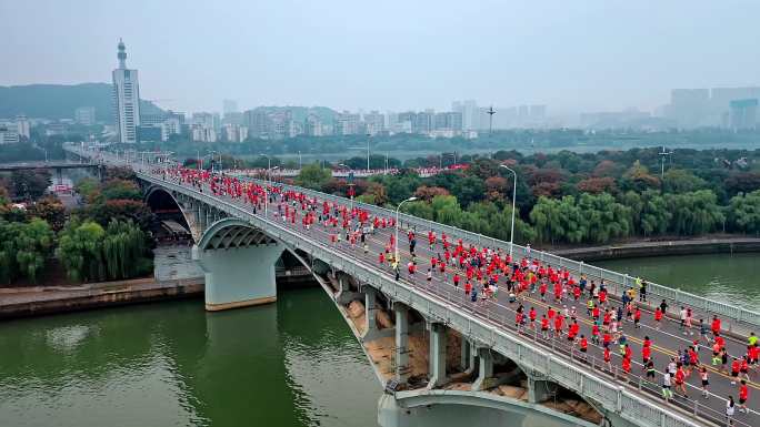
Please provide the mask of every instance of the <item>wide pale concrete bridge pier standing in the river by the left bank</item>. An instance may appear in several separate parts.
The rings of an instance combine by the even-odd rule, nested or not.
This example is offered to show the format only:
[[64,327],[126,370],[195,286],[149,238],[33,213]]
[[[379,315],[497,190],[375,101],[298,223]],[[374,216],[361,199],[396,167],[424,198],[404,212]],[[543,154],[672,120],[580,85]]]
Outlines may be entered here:
[[217,250],[193,246],[192,257],[206,273],[206,309],[276,302],[274,263],[281,254],[278,243]]

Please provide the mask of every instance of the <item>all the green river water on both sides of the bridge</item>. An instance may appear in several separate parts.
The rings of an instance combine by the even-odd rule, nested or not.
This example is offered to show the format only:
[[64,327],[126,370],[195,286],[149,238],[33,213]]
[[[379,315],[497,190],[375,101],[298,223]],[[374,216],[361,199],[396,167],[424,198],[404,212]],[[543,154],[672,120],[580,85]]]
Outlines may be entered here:
[[[757,308],[760,256],[598,263]],[[380,385],[321,288],[0,323],[0,427],[376,426]]]

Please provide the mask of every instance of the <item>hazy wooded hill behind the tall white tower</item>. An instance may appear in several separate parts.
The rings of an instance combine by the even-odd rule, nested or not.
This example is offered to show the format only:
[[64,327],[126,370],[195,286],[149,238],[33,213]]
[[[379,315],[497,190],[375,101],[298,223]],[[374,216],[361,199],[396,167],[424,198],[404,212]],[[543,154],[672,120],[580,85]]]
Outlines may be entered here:
[[[0,118],[73,119],[77,108],[94,106],[98,121],[113,123],[112,91],[109,83],[0,87]],[[140,106],[143,114],[160,111],[148,101]]]

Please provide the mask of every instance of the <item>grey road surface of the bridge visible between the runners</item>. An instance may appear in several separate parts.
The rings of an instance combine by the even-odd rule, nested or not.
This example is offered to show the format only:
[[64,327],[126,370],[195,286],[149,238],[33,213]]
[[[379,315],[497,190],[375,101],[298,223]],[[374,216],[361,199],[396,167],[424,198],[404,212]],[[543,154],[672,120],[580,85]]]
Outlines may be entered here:
[[[197,189],[192,189],[190,185],[187,186],[192,191],[197,191]],[[208,196],[210,190],[208,189],[207,184],[204,194]],[[233,203],[246,210],[251,210],[251,205],[243,203],[240,199],[231,199],[227,196],[216,197],[218,197],[220,201]],[[276,204],[270,205],[270,207],[271,209],[269,210],[268,220],[281,221],[281,218],[278,216]],[[263,215],[262,210],[259,210],[258,215]],[[316,223],[310,231],[306,231],[298,222],[296,224],[289,225],[289,227],[292,227],[293,232],[303,234],[304,238],[321,241],[324,245],[332,246],[333,250],[339,251],[347,257],[361,260],[364,264],[374,265],[378,270],[378,274],[387,276],[393,275],[393,272],[387,263],[384,265],[380,265],[378,262],[379,254],[381,252],[384,252],[384,247],[390,240],[390,236],[392,234],[391,228],[380,228],[377,230],[373,235],[368,235],[368,251],[367,253],[364,253],[360,244],[351,246],[346,241],[338,244],[331,243],[330,235],[336,233],[337,228],[326,227],[322,224]],[[416,253],[418,262],[420,264],[420,268],[413,275],[410,275],[406,273],[406,271],[403,271],[401,274],[401,281],[411,284],[420,293],[433,294],[441,298],[446,298],[461,307],[464,307],[467,311],[472,313],[473,316],[486,318],[489,322],[496,322],[504,329],[508,329],[512,333],[521,334],[524,336],[526,339],[534,340],[537,344],[544,346],[548,352],[552,352],[557,355],[564,355],[568,359],[572,358],[579,365],[584,366],[584,368],[591,369],[597,374],[606,376],[610,383],[641,389],[642,396],[649,396],[649,398],[660,398],[659,392],[662,377],[661,373],[663,372],[664,366],[671,357],[678,354],[679,350],[688,348],[688,346],[691,345],[693,339],[699,338],[698,329],[692,328],[691,331],[683,332],[680,329],[679,323],[672,318],[663,322],[661,327],[658,328],[656,322],[653,321],[652,313],[649,309],[647,309],[647,312],[642,316],[640,328],[634,328],[633,324],[629,322],[624,322],[622,326],[622,328],[624,329],[624,334],[628,337],[628,343],[630,344],[633,350],[632,370],[627,376],[627,378],[622,378],[620,370],[621,359],[617,354],[617,345],[613,345],[612,347],[612,349],[614,349],[612,356],[612,364],[608,367],[604,366],[604,363],[602,362],[602,347],[599,345],[593,345],[590,343],[587,357],[584,359],[580,359],[580,352],[571,349],[566,336],[550,336],[548,339],[544,339],[540,336],[538,332],[531,329],[529,326],[520,331],[516,328],[514,315],[516,309],[520,303],[524,305],[526,313],[530,309],[531,306],[536,307],[536,309],[539,313],[539,318],[541,317],[541,314],[546,313],[546,309],[548,309],[548,307],[553,307],[557,311],[561,311],[563,308],[563,305],[574,305],[578,309],[580,334],[584,334],[587,337],[590,337],[591,318],[586,313],[584,299],[581,299],[579,302],[564,301],[563,303],[557,303],[553,301],[552,297],[547,298],[547,301],[541,301],[541,298],[537,294],[527,294],[522,295],[518,302],[510,302],[507,293],[504,292],[506,285],[503,283],[500,283],[501,291],[499,292],[496,298],[486,302],[471,303],[464,296],[461,289],[462,286],[460,285],[459,288],[456,288],[451,282],[451,275],[457,271],[456,267],[448,266],[446,274],[440,274],[438,273],[438,271],[436,271],[436,273],[432,275],[432,278],[430,281],[427,281],[426,272],[428,265],[430,265],[430,257],[437,255],[437,253],[439,252],[442,253],[443,250],[441,247],[440,242],[440,232],[438,243],[432,248],[430,248],[427,244],[427,230],[418,230],[418,232],[420,233],[420,235],[418,236],[418,245]],[[401,234],[400,237],[400,247],[404,248],[404,251],[400,251],[400,265],[404,266],[406,263],[410,260],[410,253],[406,251],[406,248],[408,247],[406,235]],[[464,244],[474,245],[476,242],[464,242]],[[464,273],[459,271],[459,274],[462,276],[461,283],[463,284],[466,281]],[[590,276],[589,278],[594,277]],[[599,278],[597,277],[596,279],[598,281]],[[551,292],[551,288],[549,292]],[[619,305],[619,301],[611,301],[611,305],[617,307],[617,305]],[[699,317],[697,317],[697,319]],[[706,322],[709,322],[709,319],[706,318]],[[727,326],[728,325],[724,321],[723,328],[727,328]],[[642,378],[642,369],[641,364],[639,362],[641,360],[641,344],[644,336],[649,336],[649,338],[652,340],[652,357],[654,360],[654,366],[658,370],[657,377],[653,382],[648,382]],[[729,354],[732,356],[741,356],[746,353],[744,342],[739,337],[734,338],[728,336],[727,348],[729,350]],[[689,399],[679,396],[677,393],[674,401],[670,405],[678,405],[678,407],[689,411],[696,409],[698,410],[699,416],[702,419],[722,419],[722,415],[724,414],[726,397],[732,395],[734,399],[737,399],[738,404],[738,385],[731,384],[732,378],[729,374],[721,373],[719,370],[719,367],[712,366],[710,364],[711,352],[708,347],[700,345],[699,358],[701,365],[707,366],[709,370],[709,398],[702,398],[700,396],[700,380],[699,376],[697,375],[697,372],[694,370],[687,379]],[[738,425],[758,426],[760,425],[760,415],[754,410],[758,408],[758,404],[760,404],[760,398],[758,397],[758,393],[760,392],[760,384],[757,383],[757,367],[750,369],[750,375],[752,379],[751,382],[749,382],[750,398],[748,401],[748,406],[750,408],[750,411],[749,414],[740,414],[737,410],[736,421]],[[666,404],[663,405],[667,407]]]

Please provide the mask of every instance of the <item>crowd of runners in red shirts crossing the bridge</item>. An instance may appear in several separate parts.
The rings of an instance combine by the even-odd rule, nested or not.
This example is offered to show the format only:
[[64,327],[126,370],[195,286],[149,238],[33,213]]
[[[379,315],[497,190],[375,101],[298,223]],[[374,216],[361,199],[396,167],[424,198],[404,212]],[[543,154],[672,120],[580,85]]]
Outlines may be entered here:
[[[758,337],[752,333],[738,346],[737,337],[727,336],[718,316],[697,316],[691,307],[670,307],[664,299],[652,309],[646,304],[649,295],[643,279],[637,278],[634,286],[620,295],[610,295],[603,279],[541,263],[530,258],[530,253],[512,258],[501,248],[477,247],[434,231],[404,231],[401,251],[397,247],[401,242],[391,232],[396,227],[393,217],[208,171],[176,167],[153,172],[199,192],[241,202],[254,214],[266,210],[283,224],[313,233],[332,247],[363,254],[397,281],[451,286],[476,311],[506,299],[519,333],[561,340],[571,354],[587,360],[590,348],[596,347],[602,362],[598,367],[622,379],[632,375],[634,366],[640,369],[639,376],[651,383],[658,383],[659,376],[666,400],[676,395],[689,397],[690,378],[696,378],[691,387],[708,399],[711,382],[721,380],[736,387],[736,394],[724,396],[726,415],[732,418],[734,410],[749,410],[749,386],[759,370]],[[401,253],[399,258],[397,253]],[[499,298],[501,288],[507,296]],[[664,323],[676,323],[678,329],[668,332]],[[656,335],[668,342],[658,346]],[[729,339],[734,344],[731,349]],[[682,349],[668,349],[678,343]]]

